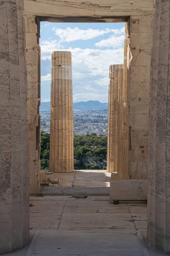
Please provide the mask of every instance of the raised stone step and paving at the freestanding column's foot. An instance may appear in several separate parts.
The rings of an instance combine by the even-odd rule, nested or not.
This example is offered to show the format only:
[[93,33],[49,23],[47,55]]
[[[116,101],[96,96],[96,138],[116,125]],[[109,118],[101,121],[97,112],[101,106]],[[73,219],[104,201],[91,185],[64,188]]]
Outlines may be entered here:
[[76,170],[59,173],[59,178],[66,178],[66,186],[41,187],[39,195],[109,195],[111,173],[106,170]]

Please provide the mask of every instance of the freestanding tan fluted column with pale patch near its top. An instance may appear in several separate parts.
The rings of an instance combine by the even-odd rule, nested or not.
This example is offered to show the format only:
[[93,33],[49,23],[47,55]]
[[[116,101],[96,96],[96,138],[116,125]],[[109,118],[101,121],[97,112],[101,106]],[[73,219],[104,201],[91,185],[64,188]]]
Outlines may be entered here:
[[52,52],[50,172],[74,171],[71,52]]

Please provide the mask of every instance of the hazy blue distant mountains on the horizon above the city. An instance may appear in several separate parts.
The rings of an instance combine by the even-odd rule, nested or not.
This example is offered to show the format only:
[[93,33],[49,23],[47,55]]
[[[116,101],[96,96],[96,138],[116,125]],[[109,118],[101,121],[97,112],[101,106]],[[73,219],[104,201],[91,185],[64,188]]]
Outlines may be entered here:
[[[41,110],[50,110],[50,102],[42,102]],[[101,103],[98,100],[89,100],[87,102],[74,102],[74,110],[87,110],[87,109],[108,109],[108,103]]]

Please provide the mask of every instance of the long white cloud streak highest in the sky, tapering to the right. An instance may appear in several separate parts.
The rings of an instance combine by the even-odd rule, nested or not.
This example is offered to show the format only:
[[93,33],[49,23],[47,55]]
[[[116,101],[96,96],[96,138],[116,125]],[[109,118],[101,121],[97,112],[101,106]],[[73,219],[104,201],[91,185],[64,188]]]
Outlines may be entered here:
[[121,35],[125,33],[125,27],[121,29],[79,29],[77,27],[71,29],[67,27],[66,29],[53,28],[55,34],[59,36],[61,42],[73,42],[77,40],[89,40],[96,38],[101,35],[108,33],[113,33],[116,35]]

